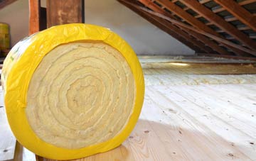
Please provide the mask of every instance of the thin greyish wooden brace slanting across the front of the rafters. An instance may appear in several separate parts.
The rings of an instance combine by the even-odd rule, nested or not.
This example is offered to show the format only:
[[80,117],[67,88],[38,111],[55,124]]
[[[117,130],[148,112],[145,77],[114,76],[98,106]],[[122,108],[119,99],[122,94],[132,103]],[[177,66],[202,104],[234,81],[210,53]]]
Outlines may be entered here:
[[[124,1],[124,0],[119,0],[119,1]],[[176,25],[178,25],[178,26],[182,26],[182,27],[184,27],[184,28],[187,28],[188,30],[193,30],[193,31],[195,31],[196,33],[201,33],[201,34],[203,34],[203,35],[206,35],[207,37],[212,38],[213,40],[216,40],[216,41],[218,41],[218,42],[220,42],[220,43],[223,43],[223,44],[225,44],[225,45],[227,45],[227,46],[230,46],[230,47],[235,48],[235,49],[239,49],[239,50],[244,51],[244,52],[247,52],[247,53],[250,53],[251,55],[256,55],[256,51],[254,51],[254,50],[250,50],[250,49],[247,49],[247,48],[243,48],[241,45],[232,43],[232,42],[230,42],[230,41],[228,41],[228,40],[225,40],[225,39],[220,38],[220,37],[218,37],[218,36],[215,36],[215,35],[212,35],[212,34],[210,34],[210,33],[207,33],[207,32],[204,31],[204,30],[201,30],[201,29],[198,29],[198,28],[193,28],[192,26],[188,26],[188,25],[186,25],[185,23],[181,23],[180,21],[176,21],[176,20],[173,19],[173,18],[169,18],[169,17],[164,16],[164,15],[162,15],[162,14],[160,14],[160,13],[156,13],[156,12],[154,12],[154,11],[151,11],[151,10],[149,10],[149,9],[146,9],[145,7],[138,6],[138,5],[134,5],[134,4],[130,3],[130,2],[127,2],[127,3],[131,4],[132,6],[134,6],[134,7],[137,8],[137,9],[146,11],[146,12],[148,12],[148,13],[151,13],[152,15],[155,15],[155,16],[159,16],[160,18],[164,18],[164,19],[166,19],[167,21],[170,21],[171,23],[174,23],[174,24],[176,24]]]

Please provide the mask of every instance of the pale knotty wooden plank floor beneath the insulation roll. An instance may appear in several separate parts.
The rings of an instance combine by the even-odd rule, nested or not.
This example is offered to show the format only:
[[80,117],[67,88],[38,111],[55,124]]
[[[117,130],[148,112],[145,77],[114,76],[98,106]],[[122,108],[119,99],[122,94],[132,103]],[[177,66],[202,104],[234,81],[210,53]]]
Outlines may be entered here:
[[[176,77],[181,74],[176,72]],[[164,82],[146,85],[142,114],[129,138],[119,148],[80,160],[256,160],[256,83],[228,81],[233,76],[253,78],[255,74],[211,74],[226,81],[196,85],[188,83],[190,77],[184,79],[190,72],[173,79],[172,84],[164,76],[168,73],[159,72],[145,74],[146,83],[151,75]],[[195,75],[198,79],[206,76]],[[3,123],[0,126],[1,132]],[[0,155],[14,147],[1,141]],[[22,147],[16,145],[14,152],[19,160],[48,161],[17,147]]]

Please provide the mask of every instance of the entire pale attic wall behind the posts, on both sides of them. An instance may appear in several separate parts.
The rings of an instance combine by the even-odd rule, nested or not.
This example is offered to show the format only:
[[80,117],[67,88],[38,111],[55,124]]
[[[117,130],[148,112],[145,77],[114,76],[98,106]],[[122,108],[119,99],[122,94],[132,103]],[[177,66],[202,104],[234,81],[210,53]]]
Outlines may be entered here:
[[[46,6],[46,0],[42,1]],[[28,35],[28,0],[0,9],[0,22],[11,26],[11,45]],[[119,4],[116,0],[85,0],[85,23],[110,28],[138,55],[193,55],[194,51]]]

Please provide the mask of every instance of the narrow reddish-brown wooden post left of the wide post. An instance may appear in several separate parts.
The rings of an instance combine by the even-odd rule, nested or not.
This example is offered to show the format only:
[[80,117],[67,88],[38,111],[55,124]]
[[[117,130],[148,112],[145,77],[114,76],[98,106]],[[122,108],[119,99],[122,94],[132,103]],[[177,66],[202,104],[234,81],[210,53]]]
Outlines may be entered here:
[[40,30],[40,0],[29,0],[29,35]]

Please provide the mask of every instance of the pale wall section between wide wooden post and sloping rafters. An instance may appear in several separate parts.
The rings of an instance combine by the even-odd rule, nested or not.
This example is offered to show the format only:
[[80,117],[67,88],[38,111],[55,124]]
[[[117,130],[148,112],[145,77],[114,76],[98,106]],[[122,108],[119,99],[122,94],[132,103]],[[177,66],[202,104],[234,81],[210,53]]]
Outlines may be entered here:
[[110,28],[139,55],[193,55],[194,51],[116,0],[85,0],[85,23]]

